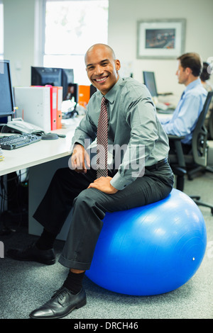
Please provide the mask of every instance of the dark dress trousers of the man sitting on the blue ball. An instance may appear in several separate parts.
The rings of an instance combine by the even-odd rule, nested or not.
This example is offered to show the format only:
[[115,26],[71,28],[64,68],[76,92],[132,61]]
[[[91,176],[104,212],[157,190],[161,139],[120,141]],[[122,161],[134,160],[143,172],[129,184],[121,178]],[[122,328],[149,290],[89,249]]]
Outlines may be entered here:
[[[109,171],[109,176],[113,176]],[[96,179],[96,170],[77,174],[58,169],[33,217],[46,230],[59,233],[73,205],[72,221],[59,262],[73,269],[87,270],[102,230],[106,212],[127,210],[159,201],[173,188],[173,173],[168,163],[146,169],[143,177],[115,194],[87,188]]]

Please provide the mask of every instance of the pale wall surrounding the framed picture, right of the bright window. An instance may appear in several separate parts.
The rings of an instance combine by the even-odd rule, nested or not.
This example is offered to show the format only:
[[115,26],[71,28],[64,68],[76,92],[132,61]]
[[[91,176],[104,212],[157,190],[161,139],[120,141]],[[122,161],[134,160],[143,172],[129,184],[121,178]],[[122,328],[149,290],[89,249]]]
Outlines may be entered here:
[[[158,91],[178,96],[184,86],[177,83],[177,60],[136,59],[136,23],[144,19],[186,18],[185,52],[198,52],[203,60],[213,57],[212,0],[109,0],[109,45],[124,65],[132,62],[133,77],[143,82],[143,70],[155,72]],[[213,83],[213,74],[212,74]]]

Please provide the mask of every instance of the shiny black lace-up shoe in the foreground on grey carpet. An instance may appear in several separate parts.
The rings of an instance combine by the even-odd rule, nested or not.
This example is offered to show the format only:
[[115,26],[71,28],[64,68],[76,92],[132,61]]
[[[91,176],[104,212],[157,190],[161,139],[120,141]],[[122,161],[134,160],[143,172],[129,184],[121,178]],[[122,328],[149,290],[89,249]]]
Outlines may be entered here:
[[65,317],[72,310],[79,309],[86,303],[87,298],[83,288],[79,293],[73,295],[70,290],[62,286],[47,303],[31,312],[30,317],[33,319],[58,319]]

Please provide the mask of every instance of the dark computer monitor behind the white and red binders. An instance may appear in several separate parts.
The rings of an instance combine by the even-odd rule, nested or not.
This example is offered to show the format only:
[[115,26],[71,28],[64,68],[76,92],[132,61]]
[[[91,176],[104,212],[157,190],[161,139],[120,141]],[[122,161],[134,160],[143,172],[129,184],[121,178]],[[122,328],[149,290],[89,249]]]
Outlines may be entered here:
[[73,69],[51,68],[51,67],[31,67],[32,86],[63,87],[63,101],[67,99],[68,85],[74,83]]

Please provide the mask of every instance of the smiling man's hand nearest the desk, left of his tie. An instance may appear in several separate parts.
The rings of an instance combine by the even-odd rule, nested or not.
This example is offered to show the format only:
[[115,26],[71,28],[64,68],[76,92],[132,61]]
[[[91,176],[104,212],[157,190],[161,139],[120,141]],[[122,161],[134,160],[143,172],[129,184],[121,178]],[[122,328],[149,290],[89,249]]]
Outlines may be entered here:
[[80,144],[77,144],[73,148],[71,156],[72,169],[77,172],[87,173],[87,168],[90,167],[89,154]]

